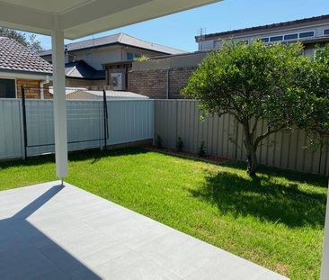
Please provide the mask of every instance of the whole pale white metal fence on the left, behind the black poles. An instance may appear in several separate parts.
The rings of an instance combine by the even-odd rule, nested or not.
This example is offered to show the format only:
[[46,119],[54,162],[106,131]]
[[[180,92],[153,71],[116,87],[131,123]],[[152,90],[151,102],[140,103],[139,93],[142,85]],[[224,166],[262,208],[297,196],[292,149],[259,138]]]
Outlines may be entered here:
[[[154,136],[154,101],[108,101],[108,145]],[[52,100],[27,100],[28,156],[54,152]],[[103,145],[102,101],[67,101],[68,150],[100,148]],[[75,142],[75,143],[70,143]],[[23,157],[22,101],[0,99],[0,159]]]

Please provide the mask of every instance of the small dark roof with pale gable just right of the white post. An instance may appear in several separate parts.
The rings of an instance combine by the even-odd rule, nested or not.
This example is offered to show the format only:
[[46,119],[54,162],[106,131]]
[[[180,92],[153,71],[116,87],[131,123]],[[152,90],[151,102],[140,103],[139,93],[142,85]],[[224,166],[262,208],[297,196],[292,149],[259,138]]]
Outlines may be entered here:
[[105,70],[96,70],[85,63],[84,60],[78,60],[65,65],[65,75],[67,77],[103,80],[105,79]]

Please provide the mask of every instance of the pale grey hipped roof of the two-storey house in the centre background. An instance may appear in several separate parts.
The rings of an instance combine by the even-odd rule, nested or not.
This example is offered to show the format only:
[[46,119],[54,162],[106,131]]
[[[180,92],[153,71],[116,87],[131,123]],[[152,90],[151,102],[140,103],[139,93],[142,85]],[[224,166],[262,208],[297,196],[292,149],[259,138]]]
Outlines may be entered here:
[[[179,54],[186,52],[183,50],[173,49],[171,47],[167,47],[164,45],[143,41],[125,33],[119,33],[110,36],[70,43],[67,44],[67,51],[93,49],[93,48],[99,48],[113,44],[121,44],[121,45],[137,47],[146,50],[154,50],[154,51],[162,52],[164,54]],[[51,50],[45,50],[45,51],[41,51],[39,55],[42,57],[42,56],[48,56],[50,54],[51,54]]]

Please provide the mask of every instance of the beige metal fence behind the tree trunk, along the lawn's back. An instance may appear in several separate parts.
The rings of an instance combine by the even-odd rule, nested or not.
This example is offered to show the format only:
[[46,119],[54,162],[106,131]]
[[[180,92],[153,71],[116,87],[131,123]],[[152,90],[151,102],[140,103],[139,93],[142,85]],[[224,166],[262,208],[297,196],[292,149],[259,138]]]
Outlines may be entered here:
[[[207,153],[218,158],[245,160],[244,132],[233,116],[213,116],[200,121],[198,102],[192,100],[156,100],[155,135],[166,148],[175,148],[178,137],[184,150],[197,153],[204,141]],[[259,123],[258,131],[264,130]],[[259,162],[307,173],[329,175],[327,148],[305,149],[304,131],[279,132],[264,140],[258,149]]]

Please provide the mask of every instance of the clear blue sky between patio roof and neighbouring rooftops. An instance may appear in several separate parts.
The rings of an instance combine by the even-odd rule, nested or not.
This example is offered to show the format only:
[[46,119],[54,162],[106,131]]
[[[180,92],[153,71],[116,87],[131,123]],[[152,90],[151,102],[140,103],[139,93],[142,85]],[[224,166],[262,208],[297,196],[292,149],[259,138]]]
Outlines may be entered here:
[[[194,36],[201,28],[206,29],[207,33],[221,32],[322,14],[329,14],[328,0],[225,0],[146,23],[98,33],[94,38],[125,32],[145,41],[194,51],[197,50]],[[43,48],[51,47],[48,36],[39,35],[38,38]]]

